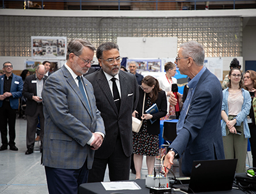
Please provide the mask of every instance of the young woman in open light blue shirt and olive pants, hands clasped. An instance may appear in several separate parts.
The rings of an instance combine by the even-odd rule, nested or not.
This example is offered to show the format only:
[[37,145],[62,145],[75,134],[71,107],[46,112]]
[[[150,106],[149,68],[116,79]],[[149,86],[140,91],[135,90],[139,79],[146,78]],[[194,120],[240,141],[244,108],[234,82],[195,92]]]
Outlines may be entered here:
[[247,142],[250,130],[250,93],[243,89],[242,71],[232,68],[228,73],[228,87],[223,90],[221,131],[226,159],[237,158],[236,172],[245,172]]

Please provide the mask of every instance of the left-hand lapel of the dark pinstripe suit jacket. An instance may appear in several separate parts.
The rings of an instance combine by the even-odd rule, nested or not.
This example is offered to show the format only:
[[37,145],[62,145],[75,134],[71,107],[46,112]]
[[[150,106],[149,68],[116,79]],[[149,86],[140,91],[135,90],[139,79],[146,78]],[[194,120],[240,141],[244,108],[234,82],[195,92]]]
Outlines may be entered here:
[[113,110],[115,110],[116,114],[118,114],[118,110],[116,108],[111,90],[109,88],[108,80],[107,80],[106,76],[104,75],[102,69],[100,69],[100,71],[99,71],[97,82],[99,84],[99,87],[100,87],[102,93],[106,96],[106,99],[109,101],[109,104],[111,105]]

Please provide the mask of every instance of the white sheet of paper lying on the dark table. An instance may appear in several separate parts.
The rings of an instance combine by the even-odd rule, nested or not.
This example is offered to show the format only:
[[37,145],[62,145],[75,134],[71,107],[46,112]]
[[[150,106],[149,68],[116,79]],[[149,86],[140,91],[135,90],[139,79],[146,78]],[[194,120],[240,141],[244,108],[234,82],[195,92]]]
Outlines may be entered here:
[[141,190],[141,187],[134,181],[127,182],[101,182],[106,191],[109,190]]

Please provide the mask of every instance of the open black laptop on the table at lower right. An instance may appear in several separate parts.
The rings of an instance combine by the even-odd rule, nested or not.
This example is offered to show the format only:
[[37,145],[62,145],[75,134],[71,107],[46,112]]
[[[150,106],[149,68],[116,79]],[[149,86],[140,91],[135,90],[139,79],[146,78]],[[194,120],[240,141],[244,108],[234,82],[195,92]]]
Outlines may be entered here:
[[189,184],[174,184],[173,188],[187,193],[232,190],[237,159],[193,161]]

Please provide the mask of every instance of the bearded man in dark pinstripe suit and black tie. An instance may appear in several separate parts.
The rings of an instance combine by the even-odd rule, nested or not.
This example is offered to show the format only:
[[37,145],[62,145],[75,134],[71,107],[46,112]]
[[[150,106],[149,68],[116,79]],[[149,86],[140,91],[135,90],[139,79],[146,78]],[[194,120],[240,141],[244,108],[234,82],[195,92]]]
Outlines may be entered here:
[[86,75],[93,86],[97,108],[106,129],[102,146],[95,151],[88,182],[104,181],[106,166],[110,181],[129,180],[132,154],[132,112],[139,93],[136,77],[120,71],[122,61],[118,45],[103,43],[96,56],[101,69]]

